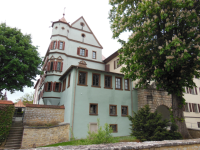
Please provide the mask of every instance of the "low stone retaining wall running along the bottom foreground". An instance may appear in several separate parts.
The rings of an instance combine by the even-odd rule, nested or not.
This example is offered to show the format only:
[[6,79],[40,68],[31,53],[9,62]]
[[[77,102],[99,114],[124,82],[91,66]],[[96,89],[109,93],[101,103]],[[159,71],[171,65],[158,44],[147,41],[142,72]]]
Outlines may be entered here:
[[151,141],[151,142],[121,142],[112,144],[94,144],[94,145],[79,145],[79,146],[59,146],[59,147],[43,147],[37,150],[199,150],[200,139],[191,140],[167,140],[167,141]]

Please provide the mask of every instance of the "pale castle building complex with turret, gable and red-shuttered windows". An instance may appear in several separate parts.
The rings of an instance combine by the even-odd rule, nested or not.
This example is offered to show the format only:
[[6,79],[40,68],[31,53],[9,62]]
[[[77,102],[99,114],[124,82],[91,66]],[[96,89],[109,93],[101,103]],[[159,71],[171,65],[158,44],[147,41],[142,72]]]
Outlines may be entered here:
[[[64,105],[64,122],[70,123],[76,138],[86,138],[88,126],[90,131],[97,131],[98,118],[101,126],[108,123],[113,128],[113,136],[130,135],[130,121],[126,116],[149,102],[151,107],[169,117],[170,97],[165,104],[163,94],[138,92],[134,89],[136,81],[124,79],[120,72],[123,65],[118,65],[118,52],[105,59],[102,50],[83,17],[71,25],[64,16],[53,22],[51,42],[42,68],[44,74],[34,87],[34,104]],[[200,87],[199,80],[195,82]],[[188,89],[185,93],[187,126],[192,123],[195,128],[200,127],[199,97],[196,95],[199,92]]]

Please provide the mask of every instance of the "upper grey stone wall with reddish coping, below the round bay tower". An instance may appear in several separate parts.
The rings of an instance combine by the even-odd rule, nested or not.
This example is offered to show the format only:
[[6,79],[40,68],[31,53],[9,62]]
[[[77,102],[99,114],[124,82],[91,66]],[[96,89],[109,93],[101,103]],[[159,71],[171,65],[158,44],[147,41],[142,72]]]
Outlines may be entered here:
[[43,125],[64,122],[64,106],[27,104],[24,114],[25,125]]

